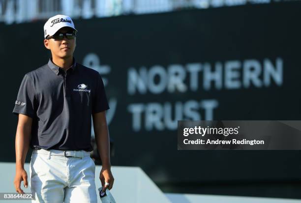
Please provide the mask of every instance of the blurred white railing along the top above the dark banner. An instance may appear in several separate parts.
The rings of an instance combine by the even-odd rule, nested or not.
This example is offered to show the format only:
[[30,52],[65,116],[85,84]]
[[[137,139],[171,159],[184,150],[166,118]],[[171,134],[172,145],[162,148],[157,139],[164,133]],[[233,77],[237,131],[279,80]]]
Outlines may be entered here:
[[56,14],[89,19],[279,1],[290,0],[0,0],[0,22],[31,22]]

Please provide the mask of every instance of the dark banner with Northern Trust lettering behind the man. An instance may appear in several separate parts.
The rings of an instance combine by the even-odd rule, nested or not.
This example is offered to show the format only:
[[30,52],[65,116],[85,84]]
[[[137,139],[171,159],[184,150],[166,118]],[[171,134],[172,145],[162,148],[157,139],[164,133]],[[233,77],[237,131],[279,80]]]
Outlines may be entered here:
[[[301,120],[300,8],[75,20],[75,58],[100,72],[109,98],[112,164],[139,166],[156,183],[300,179],[299,151],[177,150],[178,120]],[[43,25],[0,25],[1,161],[15,161],[11,112],[22,78],[50,56]]]

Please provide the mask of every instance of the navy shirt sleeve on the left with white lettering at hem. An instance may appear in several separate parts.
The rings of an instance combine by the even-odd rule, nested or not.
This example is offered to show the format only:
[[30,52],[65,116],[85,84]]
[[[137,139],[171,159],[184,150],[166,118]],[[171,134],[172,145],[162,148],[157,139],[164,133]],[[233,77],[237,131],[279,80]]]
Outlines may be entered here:
[[13,113],[15,115],[24,114],[26,116],[33,117],[35,115],[34,96],[34,87],[32,81],[30,80],[30,76],[26,74],[19,88]]

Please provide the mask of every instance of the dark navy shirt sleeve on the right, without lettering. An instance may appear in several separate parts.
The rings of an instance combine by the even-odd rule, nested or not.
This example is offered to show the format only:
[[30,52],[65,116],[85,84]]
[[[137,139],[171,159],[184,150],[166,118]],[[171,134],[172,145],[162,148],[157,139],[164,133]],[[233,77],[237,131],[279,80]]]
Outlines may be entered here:
[[110,109],[101,76],[98,74],[96,92],[93,98],[92,114]]

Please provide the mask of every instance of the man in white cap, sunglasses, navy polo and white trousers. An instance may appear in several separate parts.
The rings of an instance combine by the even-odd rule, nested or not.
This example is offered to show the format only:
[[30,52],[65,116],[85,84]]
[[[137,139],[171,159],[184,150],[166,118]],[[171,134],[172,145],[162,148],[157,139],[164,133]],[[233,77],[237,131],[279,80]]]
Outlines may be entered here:
[[76,33],[68,16],[56,15],[45,23],[44,45],[52,58],[24,76],[13,110],[19,115],[14,185],[22,194],[21,181],[28,187],[24,162],[30,146],[30,189],[36,202],[97,202],[89,152],[91,116],[103,191],[113,187],[105,115],[109,105],[99,73],[73,58]]

